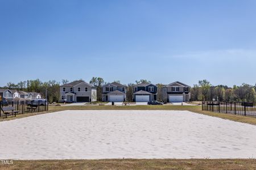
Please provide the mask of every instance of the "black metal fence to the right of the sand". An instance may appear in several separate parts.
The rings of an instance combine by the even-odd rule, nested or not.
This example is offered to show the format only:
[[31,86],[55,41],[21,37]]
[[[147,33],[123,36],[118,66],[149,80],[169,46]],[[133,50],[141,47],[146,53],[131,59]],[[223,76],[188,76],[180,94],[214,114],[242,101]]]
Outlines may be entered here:
[[203,101],[202,110],[256,117],[256,103],[249,102]]

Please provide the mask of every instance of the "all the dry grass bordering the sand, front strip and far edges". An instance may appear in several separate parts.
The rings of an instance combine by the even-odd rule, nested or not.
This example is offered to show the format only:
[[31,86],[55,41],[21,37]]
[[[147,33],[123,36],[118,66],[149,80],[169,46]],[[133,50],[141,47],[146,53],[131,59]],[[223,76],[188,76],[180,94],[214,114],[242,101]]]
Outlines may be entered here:
[[[201,106],[189,105],[84,105],[49,106],[48,112],[18,114],[16,117],[1,118],[0,121],[13,120],[65,110],[165,110],[191,111],[208,116],[256,125],[256,118],[234,114],[202,111]],[[14,160],[13,165],[1,165],[0,169],[256,169],[255,159],[106,159],[106,160]]]

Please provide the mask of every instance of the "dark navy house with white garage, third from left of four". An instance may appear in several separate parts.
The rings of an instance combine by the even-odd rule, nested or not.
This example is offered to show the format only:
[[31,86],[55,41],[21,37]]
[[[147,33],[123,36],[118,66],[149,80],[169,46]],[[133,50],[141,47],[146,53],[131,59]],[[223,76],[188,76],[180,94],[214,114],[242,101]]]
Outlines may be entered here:
[[141,83],[133,86],[133,99],[136,102],[156,100],[158,87],[151,83]]

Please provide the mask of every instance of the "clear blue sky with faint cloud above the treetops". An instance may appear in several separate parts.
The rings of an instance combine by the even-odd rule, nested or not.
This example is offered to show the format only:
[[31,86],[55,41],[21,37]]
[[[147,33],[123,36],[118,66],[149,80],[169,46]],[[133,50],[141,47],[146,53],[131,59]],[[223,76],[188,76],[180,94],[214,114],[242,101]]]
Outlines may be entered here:
[[0,86],[256,83],[256,1],[0,0]]

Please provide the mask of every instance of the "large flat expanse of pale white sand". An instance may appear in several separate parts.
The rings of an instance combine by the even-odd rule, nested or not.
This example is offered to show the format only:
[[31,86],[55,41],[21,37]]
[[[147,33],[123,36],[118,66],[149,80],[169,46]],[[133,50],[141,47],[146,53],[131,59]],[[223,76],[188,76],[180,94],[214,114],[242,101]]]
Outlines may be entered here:
[[62,111],[0,129],[0,159],[256,157],[256,126],[188,111]]

